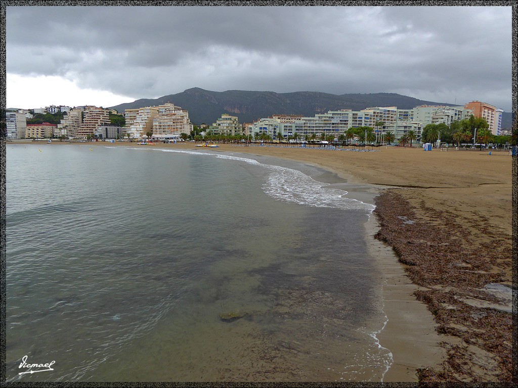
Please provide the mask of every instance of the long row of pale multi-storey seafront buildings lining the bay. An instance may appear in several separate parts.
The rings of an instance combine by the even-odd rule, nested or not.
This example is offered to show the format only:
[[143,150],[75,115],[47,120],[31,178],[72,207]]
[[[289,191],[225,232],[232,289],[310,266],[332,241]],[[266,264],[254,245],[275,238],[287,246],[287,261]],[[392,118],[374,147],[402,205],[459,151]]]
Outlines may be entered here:
[[[63,107],[50,107],[53,111]],[[48,123],[25,125],[26,112],[7,112],[7,136],[9,138],[30,137],[65,137],[65,138],[123,138],[142,139],[151,136],[154,140],[170,140],[180,138],[181,133],[191,133],[193,124],[189,112],[171,102],[157,107],[126,109],[124,112],[125,126],[117,127],[110,124],[110,113],[116,111],[84,106],[77,108],[65,107],[66,112],[60,124]],[[241,135],[254,137],[269,135],[277,139],[281,133],[283,138],[297,134],[301,139],[306,136],[339,135],[351,128],[372,127],[376,133],[383,135],[391,131],[395,142],[413,131],[420,138],[427,124],[444,123],[450,125],[474,115],[483,117],[488,122],[489,129],[494,135],[500,135],[501,117],[503,110],[487,103],[471,101],[463,106],[430,106],[422,105],[412,109],[397,107],[372,107],[359,111],[342,109],[316,114],[314,117],[301,115],[272,115],[260,118],[253,123],[240,124],[237,116],[222,114],[215,123],[208,126],[206,132],[212,134]]]

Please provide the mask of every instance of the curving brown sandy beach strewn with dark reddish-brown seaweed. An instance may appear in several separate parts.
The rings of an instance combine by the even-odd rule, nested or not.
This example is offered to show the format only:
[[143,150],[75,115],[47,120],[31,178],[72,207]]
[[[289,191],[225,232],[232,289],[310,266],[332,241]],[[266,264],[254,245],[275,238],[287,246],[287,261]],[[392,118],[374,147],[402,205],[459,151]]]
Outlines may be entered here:
[[[194,143],[80,144],[195,149]],[[204,150],[303,162],[379,191],[366,233],[385,277],[388,321],[378,338],[394,364],[384,381],[516,382],[511,295],[499,288],[513,280],[508,152],[219,145]]]

